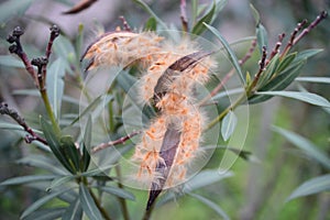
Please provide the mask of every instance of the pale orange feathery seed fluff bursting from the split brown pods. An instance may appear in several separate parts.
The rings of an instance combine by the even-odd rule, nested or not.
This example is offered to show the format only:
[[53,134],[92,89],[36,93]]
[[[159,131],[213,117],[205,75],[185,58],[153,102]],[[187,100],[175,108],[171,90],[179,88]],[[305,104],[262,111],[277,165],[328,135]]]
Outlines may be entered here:
[[[140,96],[142,102],[148,102],[154,97],[155,86],[166,69],[176,61],[198,51],[196,43],[188,38],[174,43],[152,32],[114,32],[92,44],[85,57],[92,59],[91,67],[128,66],[133,62],[140,64],[145,69],[139,84]],[[185,180],[189,164],[199,153],[205,122],[193,89],[198,84],[207,82],[209,72],[215,67],[216,63],[211,57],[204,57],[182,73],[177,73],[165,85],[166,92],[156,103],[160,116],[143,131],[131,158],[138,165],[136,179],[150,186],[166,178],[164,188]],[[166,165],[160,152],[169,124],[180,132],[180,138],[169,173],[164,177],[156,168],[160,164]]]

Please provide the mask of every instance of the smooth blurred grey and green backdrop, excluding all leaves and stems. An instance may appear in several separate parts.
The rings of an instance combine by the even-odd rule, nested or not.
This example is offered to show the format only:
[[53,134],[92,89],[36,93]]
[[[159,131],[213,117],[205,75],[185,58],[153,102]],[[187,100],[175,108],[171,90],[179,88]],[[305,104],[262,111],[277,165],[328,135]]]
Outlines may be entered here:
[[[10,1],[10,0],[9,0]],[[22,2],[28,0],[22,0]],[[7,1],[0,1],[4,3]],[[124,15],[132,28],[138,31],[148,19],[148,14],[130,0],[99,0],[89,9],[77,14],[63,14],[78,0],[43,0],[33,1],[22,18],[13,18],[0,26],[0,53],[9,54],[6,42],[12,28],[21,25],[25,30],[23,37],[28,53],[40,55],[47,42],[48,26],[56,23],[68,37],[77,35],[78,25],[85,26],[85,46],[99,32],[99,28],[111,31],[122,25],[119,20]],[[179,1],[145,0],[154,12],[166,23],[180,26]],[[200,0],[200,3],[211,3]],[[229,41],[254,35],[255,23],[249,4],[253,3],[260,11],[261,20],[267,29],[270,45],[274,45],[277,35],[287,35],[302,19],[312,21],[322,10],[329,10],[329,0],[229,0],[220,12],[215,26]],[[0,7],[3,4],[0,4]],[[0,9],[0,11],[3,9]],[[189,19],[190,1],[187,1]],[[210,37],[208,34],[204,35]],[[321,25],[305,37],[297,50],[323,48],[304,67],[302,76],[330,77],[330,22]],[[249,45],[234,47],[239,56],[243,55]],[[256,67],[257,53],[246,63]],[[330,99],[329,85],[302,84],[309,91]],[[34,97],[20,96],[18,89],[33,88],[33,82],[24,70],[8,69],[0,66],[0,101],[7,101],[19,109],[26,121],[34,120],[40,112],[40,100]],[[244,145],[257,158],[256,162],[238,160],[232,167],[233,177],[221,184],[210,185],[200,194],[211,198],[230,218],[241,220],[252,219],[330,219],[329,193],[308,196],[285,202],[290,193],[302,182],[323,174],[322,167],[284,138],[271,130],[275,124],[289,129],[309,139],[322,151],[330,154],[330,118],[322,109],[299,101],[274,98],[265,103],[250,106],[250,130]],[[16,160],[33,151],[12,132],[0,130],[0,182],[20,175],[33,174],[31,167],[20,166]],[[219,165],[219,154],[215,154],[209,167]],[[0,187],[0,219],[18,219],[19,215],[38,197],[35,190],[23,186]],[[50,205],[52,206],[52,205]],[[130,202],[130,209],[138,211],[138,206]],[[142,206],[143,207],[143,206]],[[185,197],[177,202],[170,202],[154,215],[154,219],[219,219],[208,207],[191,197]]]

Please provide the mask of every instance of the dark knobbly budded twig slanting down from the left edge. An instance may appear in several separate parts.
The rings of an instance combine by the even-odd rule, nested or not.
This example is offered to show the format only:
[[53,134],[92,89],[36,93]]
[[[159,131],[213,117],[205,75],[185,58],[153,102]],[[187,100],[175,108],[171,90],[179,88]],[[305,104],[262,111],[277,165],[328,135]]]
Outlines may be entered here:
[[8,103],[0,103],[0,113],[1,114],[7,114],[11,117],[18,124],[20,124],[24,131],[26,131],[31,136],[26,135],[24,139],[28,144],[32,143],[33,141],[38,141],[42,142],[43,144],[47,145],[47,141],[37,135],[25,122],[23,117],[21,117],[16,110],[11,109],[8,107]]

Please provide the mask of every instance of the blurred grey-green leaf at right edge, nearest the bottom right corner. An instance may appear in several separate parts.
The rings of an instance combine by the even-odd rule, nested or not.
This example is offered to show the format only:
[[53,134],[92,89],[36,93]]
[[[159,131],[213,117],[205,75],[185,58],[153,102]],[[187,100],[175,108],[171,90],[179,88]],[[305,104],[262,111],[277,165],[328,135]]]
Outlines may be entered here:
[[294,193],[286,199],[286,201],[289,201],[298,197],[318,194],[322,191],[329,191],[329,190],[330,190],[330,174],[327,174],[323,176],[315,177],[301,184],[298,188],[294,190]]

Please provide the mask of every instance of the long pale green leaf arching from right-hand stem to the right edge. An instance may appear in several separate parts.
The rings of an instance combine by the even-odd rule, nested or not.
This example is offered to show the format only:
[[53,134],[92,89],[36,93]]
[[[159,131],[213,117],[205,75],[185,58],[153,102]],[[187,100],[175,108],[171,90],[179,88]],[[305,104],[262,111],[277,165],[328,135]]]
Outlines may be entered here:
[[258,91],[256,95],[262,96],[280,96],[305,101],[310,105],[330,108],[330,102],[321,96],[306,91]]

